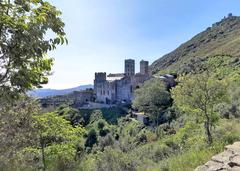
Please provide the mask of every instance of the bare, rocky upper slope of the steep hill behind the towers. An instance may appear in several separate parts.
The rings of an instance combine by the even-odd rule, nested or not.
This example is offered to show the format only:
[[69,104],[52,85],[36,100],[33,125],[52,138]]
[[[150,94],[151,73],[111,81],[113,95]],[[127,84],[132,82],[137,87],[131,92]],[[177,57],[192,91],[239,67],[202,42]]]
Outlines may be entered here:
[[178,71],[191,59],[217,54],[240,55],[240,17],[231,14],[224,17],[176,50],[156,60],[151,65],[151,71],[152,73],[165,69]]

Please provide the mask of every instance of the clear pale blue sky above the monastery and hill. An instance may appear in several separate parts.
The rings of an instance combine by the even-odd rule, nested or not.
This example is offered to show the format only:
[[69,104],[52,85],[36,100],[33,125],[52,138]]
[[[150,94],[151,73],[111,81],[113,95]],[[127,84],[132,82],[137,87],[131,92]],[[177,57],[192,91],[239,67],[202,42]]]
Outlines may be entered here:
[[68,45],[58,46],[45,88],[93,84],[95,72],[122,73],[124,59],[150,63],[220,21],[240,0],[49,0],[62,11]]

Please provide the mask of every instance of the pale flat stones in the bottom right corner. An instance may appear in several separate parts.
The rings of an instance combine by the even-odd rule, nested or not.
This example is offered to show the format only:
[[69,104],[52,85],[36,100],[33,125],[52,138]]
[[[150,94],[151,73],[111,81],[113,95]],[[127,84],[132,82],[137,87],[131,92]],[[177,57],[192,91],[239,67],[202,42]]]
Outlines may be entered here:
[[240,142],[225,147],[225,151],[213,156],[210,161],[195,171],[240,171]]

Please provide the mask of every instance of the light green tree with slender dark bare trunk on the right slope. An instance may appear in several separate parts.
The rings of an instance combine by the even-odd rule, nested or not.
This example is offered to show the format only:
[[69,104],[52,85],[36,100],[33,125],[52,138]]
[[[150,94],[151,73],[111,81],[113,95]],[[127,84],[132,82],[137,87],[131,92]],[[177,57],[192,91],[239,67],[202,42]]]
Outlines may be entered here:
[[211,127],[219,118],[214,107],[227,99],[224,81],[204,72],[183,76],[180,82],[171,91],[174,103],[182,111],[195,115],[197,122],[204,123],[207,141],[211,144]]

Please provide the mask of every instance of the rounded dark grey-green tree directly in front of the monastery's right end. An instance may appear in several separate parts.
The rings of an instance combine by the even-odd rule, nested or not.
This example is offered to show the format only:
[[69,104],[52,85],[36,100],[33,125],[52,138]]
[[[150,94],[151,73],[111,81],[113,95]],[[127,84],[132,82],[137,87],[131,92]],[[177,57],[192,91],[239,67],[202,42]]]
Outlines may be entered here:
[[165,110],[172,104],[171,95],[160,79],[146,81],[134,95],[133,107],[150,114],[156,125],[159,117],[164,115]]

